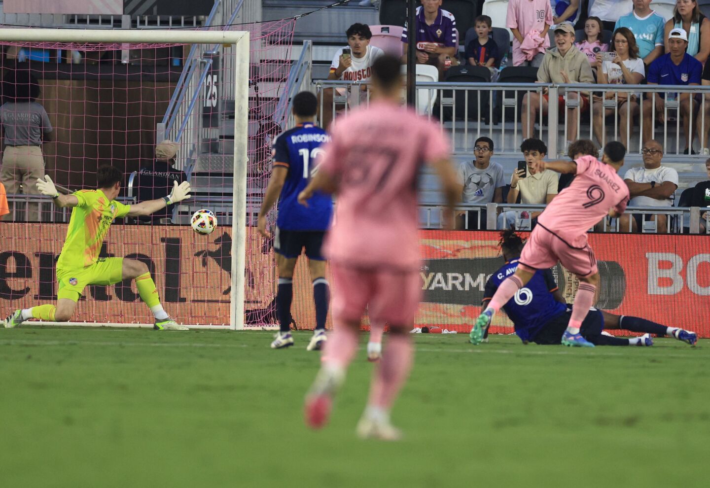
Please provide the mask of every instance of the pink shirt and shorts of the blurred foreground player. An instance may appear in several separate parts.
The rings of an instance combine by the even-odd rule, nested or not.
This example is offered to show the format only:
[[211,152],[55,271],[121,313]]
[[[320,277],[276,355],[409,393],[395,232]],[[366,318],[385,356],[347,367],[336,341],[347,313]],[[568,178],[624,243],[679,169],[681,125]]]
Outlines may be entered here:
[[334,279],[333,317],[412,323],[421,296],[417,176],[449,157],[439,126],[386,101],[334,123],[319,171],[338,183],[324,255]]

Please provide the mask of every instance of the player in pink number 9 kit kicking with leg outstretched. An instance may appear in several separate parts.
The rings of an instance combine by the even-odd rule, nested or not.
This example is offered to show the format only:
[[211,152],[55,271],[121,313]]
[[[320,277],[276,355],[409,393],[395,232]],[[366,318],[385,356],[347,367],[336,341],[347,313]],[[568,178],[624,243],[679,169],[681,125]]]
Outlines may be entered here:
[[579,334],[581,323],[594,304],[594,292],[599,283],[596,258],[586,242],[586,231],[607,215],[618,217],[626,210],[628,187],[617,174],[623,166],[624,155],[626,148],[614,141],[604,147],[602,162],[594,156],[582,156],[573,162],[537,162],[537,171],[552,170],[576,176],[537,218],[537,227],[523,248],[515,274],[503,281],[493,294],[471,330],[471,343],[481,343],[493,315],[513,295],[517,296],[535,271],[552,267],[559,260],[580,281],[562,344],[594,347]]

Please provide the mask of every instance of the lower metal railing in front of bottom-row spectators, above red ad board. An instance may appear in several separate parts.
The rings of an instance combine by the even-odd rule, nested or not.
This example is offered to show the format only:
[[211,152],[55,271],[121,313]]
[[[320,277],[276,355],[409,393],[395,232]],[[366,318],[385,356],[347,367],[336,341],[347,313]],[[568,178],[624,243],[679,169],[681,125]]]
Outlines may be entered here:
[[[446,207],[436,204],[420,204],[420,226],[422,228],[442,228],[444,225],[444,211]],[[508,225],[519,231],[529,231],[532,226],[533,212],[545,209],[542,204],[459,204],[456,207],[459,214],[459,228],[480,229],[496,231],[504,228],[501,226],[501,216],[506,213],[514,214],[508,219]],[[473,215],[471,215],[473,214]],[[528,215],[523,215],[528,214]],[[709,233],[710,211],[700,207],[676,206],[628,206],[625,215],[640,216],[642,226],[638,227],[641,233],[658,233],[657,223],[650,217],[666,216],[666,228],[661,233]],[[701,217],[703,216],[704,217]],[[647,217],[649,217],[647,219]],[[700,224],[704,223],[704,229]],[[689,225],[686,226],[685,223]],[[620,218],[603,218],[597,226],[589,229],[598,232],[632,232],[633,218],[628,219],[628,228],[621,226]]]

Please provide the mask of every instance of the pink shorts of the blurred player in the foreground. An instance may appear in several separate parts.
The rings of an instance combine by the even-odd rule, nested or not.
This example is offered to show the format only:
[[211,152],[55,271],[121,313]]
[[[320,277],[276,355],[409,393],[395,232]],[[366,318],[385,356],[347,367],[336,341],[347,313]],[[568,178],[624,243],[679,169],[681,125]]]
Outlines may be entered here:
[[334,320],[411,326],[422,296],[418,271],[375,270],[332,265]]

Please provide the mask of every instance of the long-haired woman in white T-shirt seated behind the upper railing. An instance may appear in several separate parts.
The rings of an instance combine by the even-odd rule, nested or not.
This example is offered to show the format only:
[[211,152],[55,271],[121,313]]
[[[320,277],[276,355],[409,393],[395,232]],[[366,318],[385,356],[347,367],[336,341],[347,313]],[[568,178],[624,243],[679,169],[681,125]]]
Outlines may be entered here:
[[[599,84],[640,84],[645,77],[646,70],[643,59],[638,56],[636,39],[626,27],[616,29],[613,35],[614,51],[616,56],[612,61],[602,61],[601,52],[596,55],[597,75],[596,82]],[[616,101],[616,109],[604,107],[601,96],[594,96],[594,136],[603,148],[606,144],[603,133],[603,118],[618,111],[621,116],[619,121],[619,133],[621,142],[628,147],[629,130],[633,131],[633,118],[638,112],[638,96],[628,91],[606,91],[605,98]],[[627,124],[628,129],[627,130]],[[613,126],[612,126],[613,127]]]

